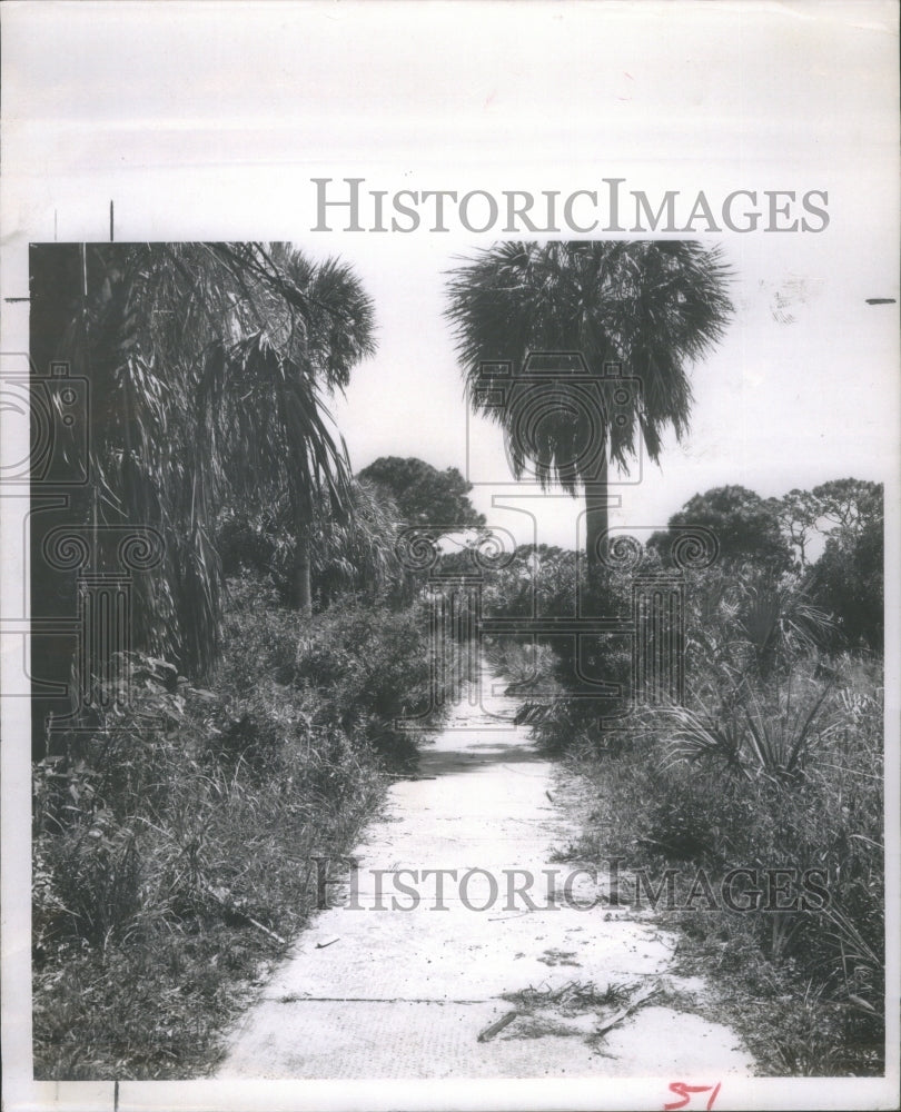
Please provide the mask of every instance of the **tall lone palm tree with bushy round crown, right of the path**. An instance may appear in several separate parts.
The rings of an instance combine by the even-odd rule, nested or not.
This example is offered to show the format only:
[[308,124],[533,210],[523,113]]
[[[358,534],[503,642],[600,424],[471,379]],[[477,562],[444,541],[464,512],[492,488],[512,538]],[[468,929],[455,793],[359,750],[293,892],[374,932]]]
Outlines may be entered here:
[[[560,485],[586,500],[586,555],[596,564],[607,532],[607,468],[626,473],[641,436],[657,460],[666,425],[687,429],[691,387],[686,366],[706,354],[732,311],[729,270],[720,252],[689,241],[502,242],[465,259],[449,275],[449,317],[471,404],[499,421],[517,478],[527,457],[542,486]],[[484,365],[507,363],[522,375],[529,356],[567,353],[601,385],[611,364],[641,383],[624,420],[598,400],[586,413],[583,388],[566,375],[545,384],[547,405],[522,443],[534,391],[497,404],[485,390]],[[572,368],[571,368],[572,369]],[[604,397],[602,394],[601,397]],[[541,409],[542,407],[538,406]],[[582,450],[586,438],[596,451]],[[592,459],[586,470],[585,459]]]

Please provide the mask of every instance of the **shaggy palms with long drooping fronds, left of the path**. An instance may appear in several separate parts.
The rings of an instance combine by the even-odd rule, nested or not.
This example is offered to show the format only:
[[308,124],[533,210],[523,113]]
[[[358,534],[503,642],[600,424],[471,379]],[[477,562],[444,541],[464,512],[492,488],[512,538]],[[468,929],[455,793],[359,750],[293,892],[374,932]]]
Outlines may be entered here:
[[65,359],[91,386],[90,483],[73,510],[97,536],[123,523],[166,538],[162,573],[136,584],[138,643],[208,669],[215,520],[247,504],[290,506],[295,599],[309,612],[314,516],[352,512],[326,394],[373,350],[353,270],[261,244],[42,245],[31,265],[32,358],[44,374]]

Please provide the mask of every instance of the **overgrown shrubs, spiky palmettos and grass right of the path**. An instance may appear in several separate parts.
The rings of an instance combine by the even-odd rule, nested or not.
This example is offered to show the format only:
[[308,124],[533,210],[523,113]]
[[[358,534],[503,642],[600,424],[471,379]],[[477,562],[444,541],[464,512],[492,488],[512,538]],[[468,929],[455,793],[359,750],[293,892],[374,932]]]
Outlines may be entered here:
[[[638,570],[660,570],[656,547]],[[823,560],[829,558],[828,545]],[[571,587],[573,565],[553,552],[523,552],[497,573],[487,592],[494,604],[526,609],[523,572],[529,566],[539,613],[571,613],[557,599]],[[628,613],[630,582],[622,573],[606,576],[605,613]],[[493,664],[525,693],[522,718],[590,785],[591,816],[574,854],[600,867],[617,858],[633,875],[644,871],[655,888],[667,868],[676,871],[674,907],[661,903],[657,911],[681,929],[683,965],[717,981],[725,1016],[761,1069],[879,1073],[882,662],[860,647],[875,641],[875,632],[850,637],[821,605],[809,569],[780,573],[768,562],[725,562],[686,573],[684,594],[681,704],[638,698],[617,718],[622,707],[612,699],[601,722],[597,701],[573,697],[584,684],[572,651],[554,651],[551,639],[497,642]],[[606,678],[628,679],[628,654],[614,637],[600,639],[585,659],[595,659]],[[779,903],[784,909],[794,901],[795,907],[771,910],[765,895],[747,896],[752,876],[743,890],[750,910],[730,910],[722,901],[713,907],[697,892],[689,910],[677,910],[699,868],[714,890],[733,868],[751,870],[759,883],[768,870],[791,870]],[[808,870],[818,871],[815,883],[828,900],[802,910]]]

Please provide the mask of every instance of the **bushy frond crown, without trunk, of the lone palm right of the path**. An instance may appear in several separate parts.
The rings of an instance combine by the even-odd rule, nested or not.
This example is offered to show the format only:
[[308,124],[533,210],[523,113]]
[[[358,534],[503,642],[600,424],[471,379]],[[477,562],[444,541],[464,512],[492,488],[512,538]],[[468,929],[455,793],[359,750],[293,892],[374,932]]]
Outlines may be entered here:
[[[519,370],[531,351],[580,351],[592,375],[621,361],[626,374],[640,376],[642,409],[627,425],[604,429],[612,458],[626,466],[638,430],[654,459],[664,424],[684,431],[690,389],[683,364],[720,337],[731,311],[726,277],[715,251],[689,241],[506,242],[452,271],[448,316],[474,379],[486,360],[509,360]],[[551,463],[549,440],[547,447]],[[578,476],[567,471],[570,459],[564,453],[557,478],[574,489]]]

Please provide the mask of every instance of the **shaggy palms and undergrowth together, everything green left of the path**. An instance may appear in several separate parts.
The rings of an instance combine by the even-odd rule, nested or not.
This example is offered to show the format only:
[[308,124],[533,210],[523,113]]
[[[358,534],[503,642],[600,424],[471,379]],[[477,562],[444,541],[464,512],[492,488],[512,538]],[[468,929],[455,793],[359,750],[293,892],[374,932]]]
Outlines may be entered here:
[[[77,693],[33,704],[39,1078],[206,1069],[310,911],[310,855],[349,850],[386,772],[415,762],[398,719],[430,694],[416,573],[328,411],[373,336],[353,268],[289,245],[32,250],[34,367],[90,387],[79,420],[58,415],[60,463],[87,479],[68,553],[119,574],[129,530],[160,540],[118,663],[36,647]],[[36,616],[76,608],[76,563],[46,558],[58,524],[31,534]]]

